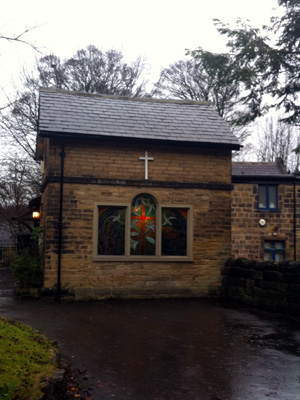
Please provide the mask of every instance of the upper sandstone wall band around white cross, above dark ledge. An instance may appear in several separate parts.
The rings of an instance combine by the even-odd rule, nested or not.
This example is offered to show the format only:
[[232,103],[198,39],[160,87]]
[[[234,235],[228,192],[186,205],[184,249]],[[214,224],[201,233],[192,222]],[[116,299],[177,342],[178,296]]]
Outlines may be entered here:
[[[45,144],[45,175],[60,175],[61,144]],[[139,157],[148,151],[150,181],[231,183],[230,150],[141,145],[114,142],[79,142],[65,146],[65,176],[144,180],[145,164]]]

